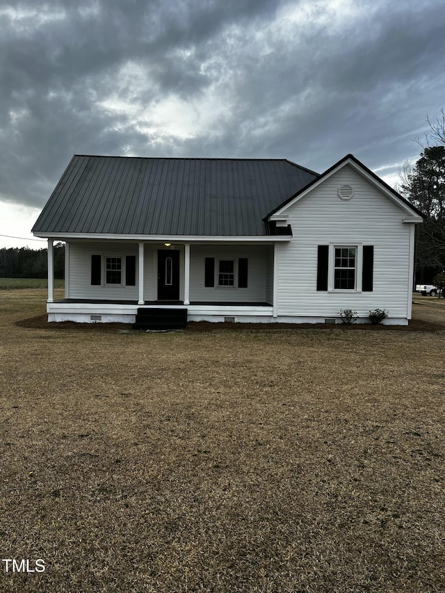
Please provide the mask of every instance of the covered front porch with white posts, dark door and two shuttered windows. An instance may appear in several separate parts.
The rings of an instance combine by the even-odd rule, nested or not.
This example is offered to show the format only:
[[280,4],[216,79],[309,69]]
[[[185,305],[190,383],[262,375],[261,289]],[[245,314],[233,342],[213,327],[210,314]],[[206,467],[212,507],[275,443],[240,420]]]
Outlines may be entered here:
[[189,321],[277,316],[271,241],[67,241],[62,299],[54,298],[52,240],[48,247],[49,321],[135,323],[143,309],[186,309]]

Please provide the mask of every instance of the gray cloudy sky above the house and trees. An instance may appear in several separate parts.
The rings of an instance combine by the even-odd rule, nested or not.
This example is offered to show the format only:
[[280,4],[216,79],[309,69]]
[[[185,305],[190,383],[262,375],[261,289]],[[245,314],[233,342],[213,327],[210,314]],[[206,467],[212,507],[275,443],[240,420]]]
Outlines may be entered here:
[[445,106],[444,0],[0,0],[0,247],[72,154],[352,152],[391,184]]

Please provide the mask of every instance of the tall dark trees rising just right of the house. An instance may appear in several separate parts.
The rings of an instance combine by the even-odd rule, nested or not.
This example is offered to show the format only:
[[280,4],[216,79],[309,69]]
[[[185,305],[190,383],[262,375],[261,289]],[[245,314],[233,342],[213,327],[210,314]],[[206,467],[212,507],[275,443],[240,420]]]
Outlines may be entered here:
[[416,283],[437,284],[445,277],[445,111],[435,121],[427,117],[425,138],[415,138],[422,151],[414,165],[400,171],[403,197],[424,216],[416,225]]

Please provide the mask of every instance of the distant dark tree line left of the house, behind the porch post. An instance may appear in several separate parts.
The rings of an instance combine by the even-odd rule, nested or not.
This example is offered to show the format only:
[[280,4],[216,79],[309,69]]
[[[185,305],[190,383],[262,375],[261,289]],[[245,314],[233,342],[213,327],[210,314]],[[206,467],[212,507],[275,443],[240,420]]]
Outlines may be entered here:
[[[54,245],[54,277],[63,279],[65,245]],[[29,247],[0,249],[0,278],[47,278],[48,250]]]

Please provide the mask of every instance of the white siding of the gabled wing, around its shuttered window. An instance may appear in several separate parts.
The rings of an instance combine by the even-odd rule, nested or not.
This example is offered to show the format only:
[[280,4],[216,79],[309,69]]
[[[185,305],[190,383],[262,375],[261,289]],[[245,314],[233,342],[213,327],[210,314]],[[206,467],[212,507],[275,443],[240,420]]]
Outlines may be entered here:
[[[340,200],[337,189],[350,184],[354,195]],[[355,309],[387,309],[391,318],[408,316],[410,224],[406,213],[346,165],[286,212],[293,239],[277,245],[279,316],[339,316]],[[374,245],[373,292],[316,290],[317,246]]]

